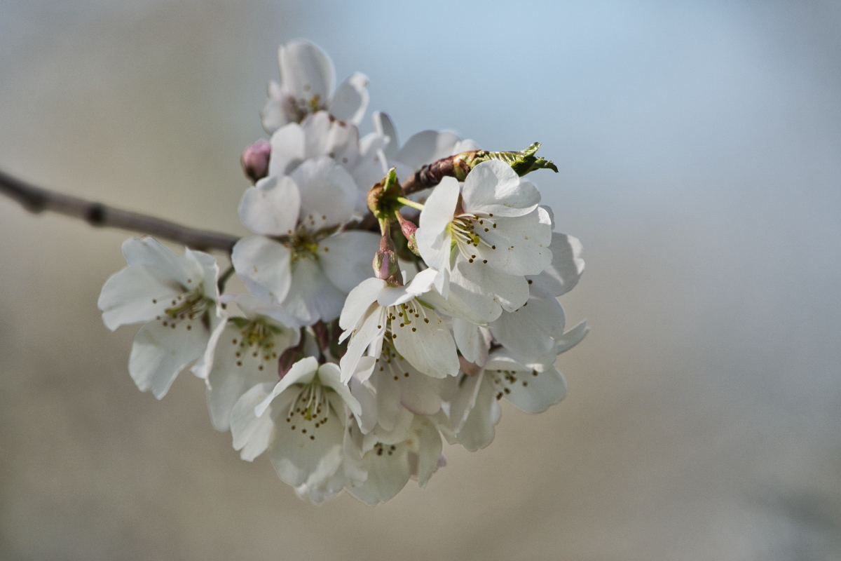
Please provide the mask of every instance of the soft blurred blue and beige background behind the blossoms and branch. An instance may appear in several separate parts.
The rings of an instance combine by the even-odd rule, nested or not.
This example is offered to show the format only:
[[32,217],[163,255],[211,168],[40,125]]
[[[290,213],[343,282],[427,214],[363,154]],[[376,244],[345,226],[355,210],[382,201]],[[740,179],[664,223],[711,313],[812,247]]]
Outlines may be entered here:
[[[841,3],[4,0],[0,168],[245,234],[296,37],[401,140],[533,141],[584,277],[569,394],[426,490],[315,507],[156,401],[97,310],[122,231],[0,198],[0,558],[841,558]],[[362,131],[371,130],[367,116]]]

